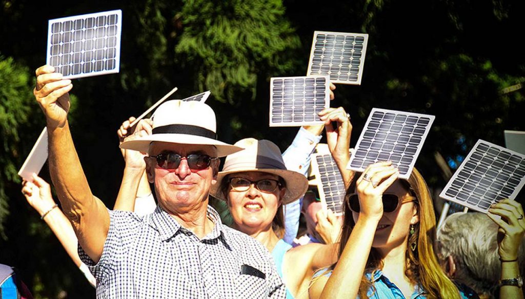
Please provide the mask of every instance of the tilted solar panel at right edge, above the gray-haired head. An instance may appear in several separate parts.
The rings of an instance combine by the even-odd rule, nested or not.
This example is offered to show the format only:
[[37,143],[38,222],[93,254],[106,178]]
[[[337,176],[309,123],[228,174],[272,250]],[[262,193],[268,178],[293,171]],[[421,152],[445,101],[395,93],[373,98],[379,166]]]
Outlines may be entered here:
[[493,203],[516,198],[525,184],[525,155],[478,140],[439,197],[487,213]]

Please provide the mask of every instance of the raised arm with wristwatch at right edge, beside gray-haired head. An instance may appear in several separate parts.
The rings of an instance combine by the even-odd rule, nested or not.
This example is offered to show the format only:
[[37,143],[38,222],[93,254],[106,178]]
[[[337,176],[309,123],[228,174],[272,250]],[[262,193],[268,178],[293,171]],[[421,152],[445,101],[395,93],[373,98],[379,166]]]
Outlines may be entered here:
[[[500,216],[501,218],[497,217]],[[523,280],[519,268],[519,248],[525,235],[525,219],[520,203],[502,200],[492,205],[487,213],[490,219],[499,225],[498,253],[501,260],[501,280],[517,283]],[[523,289],[517,285],[504,284],[499,289],[500,298],[523,299]]]

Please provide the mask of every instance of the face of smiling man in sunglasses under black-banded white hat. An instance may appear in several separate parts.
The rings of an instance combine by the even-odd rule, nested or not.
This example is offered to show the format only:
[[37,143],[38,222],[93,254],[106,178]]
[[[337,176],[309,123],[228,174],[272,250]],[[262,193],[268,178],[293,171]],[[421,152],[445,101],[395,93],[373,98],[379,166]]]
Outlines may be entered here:
[[[163,152],[176,152],[183,157],[188,154],[207,154],[216,157],[213,146],[181,145],[177,143],[153,142],[150,156]],[[193,170],[182,159],[176,169],[163,169],[155,159],[146,158],[146,173],[150,183],[155,184],[159,205],[167,212],[184,213],[198,206],[207,204],[209,189],[216,183],[218,160],[212,160],[210,167]]]

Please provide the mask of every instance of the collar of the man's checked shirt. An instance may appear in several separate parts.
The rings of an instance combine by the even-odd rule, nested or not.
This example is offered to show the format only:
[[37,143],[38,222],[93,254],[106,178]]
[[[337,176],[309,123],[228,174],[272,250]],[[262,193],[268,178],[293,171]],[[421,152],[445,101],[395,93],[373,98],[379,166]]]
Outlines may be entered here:
[[[206,235],[203,240],[216,239],[222,234],[223,224],[220,221],[220,216],[211,206],[207,206],[206,216],[212,220],[214,223],[213,230]],[[165,241],[175,236],[178,232],[184,230],[188,231],[182,227],[175,218],[168,214],[164,209],[157,205],[153,214],[151,214],[151,227],[159,231],[161,240]]]

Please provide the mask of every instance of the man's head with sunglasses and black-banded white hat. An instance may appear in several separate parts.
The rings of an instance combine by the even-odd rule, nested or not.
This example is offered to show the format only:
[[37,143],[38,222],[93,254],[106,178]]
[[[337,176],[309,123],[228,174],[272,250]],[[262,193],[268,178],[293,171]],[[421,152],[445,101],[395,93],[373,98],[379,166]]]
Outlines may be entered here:
[[153,130],[123,142],[124,149],[148,152],[146,173],[159,205],[184,213],[207,203],[216,182],[219,157],[241,148],[217,140],[215,113],[197,102],[167,101],[153,115]]

